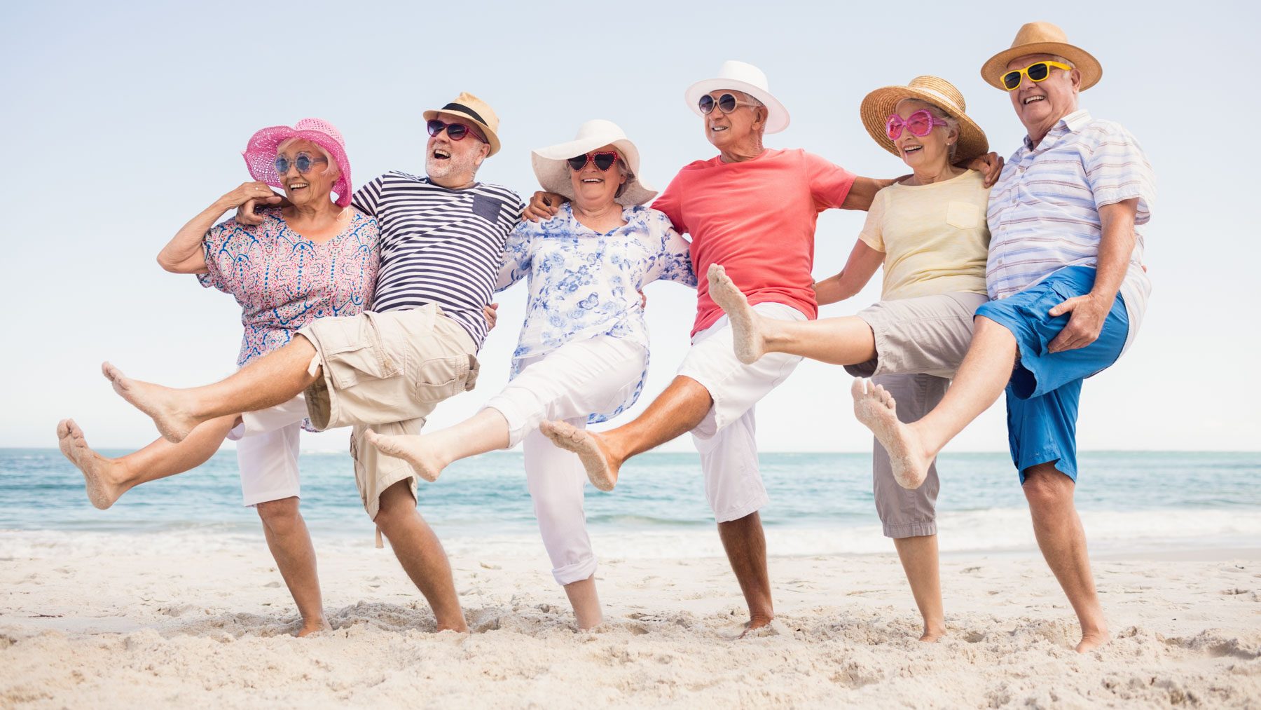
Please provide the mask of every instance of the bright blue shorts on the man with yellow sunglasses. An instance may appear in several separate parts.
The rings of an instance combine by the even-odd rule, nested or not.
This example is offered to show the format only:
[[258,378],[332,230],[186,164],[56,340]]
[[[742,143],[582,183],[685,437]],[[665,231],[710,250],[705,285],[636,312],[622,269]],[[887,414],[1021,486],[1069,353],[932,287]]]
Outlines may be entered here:
[[1095,269],[1069,266],[1028,289],[976,310],[1016,338],[1020,361],[1008,383],[1008,443],[1020,472],[1043,463],[1077,480],[1077,404],[1082,381],[1116,362],[1130,333],[1130,317],[1120,295],[1112,303],[1097,340],[1048,353],[1047,346],[1068,325],[1068,314],[1050,317],[1052,308],[1082,296],[1095,286]]

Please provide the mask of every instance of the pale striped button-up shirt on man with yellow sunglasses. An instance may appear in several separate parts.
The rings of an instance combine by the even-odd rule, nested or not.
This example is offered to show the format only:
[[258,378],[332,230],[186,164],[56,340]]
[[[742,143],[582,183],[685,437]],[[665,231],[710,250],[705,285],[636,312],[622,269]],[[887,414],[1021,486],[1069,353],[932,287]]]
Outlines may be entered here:
[[[1029,136],[990,190],[991,299],[1021,291],[1066,266],[1097,266],[1100,207],[1139,198],[1135,227],[1151,218],[1155,178],[1130,131],[1074,111],[1037,146]],[[1148,309],[1151,282],[1142,270],[1142,235],[1135,228],[1121,298],[1130,317],[1129,348]]]

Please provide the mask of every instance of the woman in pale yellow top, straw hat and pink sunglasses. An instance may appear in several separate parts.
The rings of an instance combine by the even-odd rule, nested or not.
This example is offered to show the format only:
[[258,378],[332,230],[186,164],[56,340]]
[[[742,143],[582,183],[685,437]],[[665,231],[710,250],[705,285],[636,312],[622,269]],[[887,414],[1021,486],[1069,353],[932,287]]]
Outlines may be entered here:
[[[984,304],[990,231],[984,175],[956,168],[989,150],[985,132],[965,113],[963,96],[937,77],[878,88],[863,100],[871,137],[910,166],[912,175],[876,193],[845,269],[815,284],[818,303],[857,294],[884,266],[880,303],[846,318],[774,320],[754,313],[720,266],[710,293],[731,317],[736,356],[753,362],[783,352],[873,377],[914,421],[941,401],[972,339],[972,314]],[[944,631],[937,562],[937,469],[907,491],[889,455],[873,446],[873,483],[884,533],[894,540],[915,604],[922,641]]]

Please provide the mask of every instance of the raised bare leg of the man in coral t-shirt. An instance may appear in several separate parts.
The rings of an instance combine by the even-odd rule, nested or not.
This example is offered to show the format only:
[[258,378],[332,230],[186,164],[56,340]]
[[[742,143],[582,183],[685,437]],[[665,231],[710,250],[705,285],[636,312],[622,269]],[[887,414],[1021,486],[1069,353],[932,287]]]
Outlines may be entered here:
[[593,486],[613,491],[627,459],[691,431],[712,405],[704,385],[680,375],[643,414],[617,429],[596,434],[564,421],[543,421],[538,430],[561,449],[578,454]]

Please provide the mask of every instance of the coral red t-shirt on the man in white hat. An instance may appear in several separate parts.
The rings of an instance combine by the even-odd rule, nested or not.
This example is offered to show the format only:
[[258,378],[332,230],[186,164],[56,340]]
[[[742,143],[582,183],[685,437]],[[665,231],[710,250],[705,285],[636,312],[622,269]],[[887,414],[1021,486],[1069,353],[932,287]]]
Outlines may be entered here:
[[692,334],[723,309],[709,295],[710,264],[720,264],[750,304],[782,303],[808,318],[815,303],[815,223],[840,207],[854,174],[805,150],[765,150],[753,160],[697,160],[675,175],[652,203],[692,238],[700,276]]

